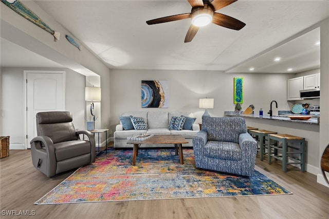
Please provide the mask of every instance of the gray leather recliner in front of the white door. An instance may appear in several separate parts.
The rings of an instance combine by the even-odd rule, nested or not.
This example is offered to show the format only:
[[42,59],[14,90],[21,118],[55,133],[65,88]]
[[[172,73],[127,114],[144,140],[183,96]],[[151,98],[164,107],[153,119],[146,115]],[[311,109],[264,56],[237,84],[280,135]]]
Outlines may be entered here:
[[[76,132],[70,112],[36,114],[36,131],[38,136],[30,142],[32,163],[48,177],[95,161],[94,135],[86,130]],[[80,134],[87,139],[81,140]]]

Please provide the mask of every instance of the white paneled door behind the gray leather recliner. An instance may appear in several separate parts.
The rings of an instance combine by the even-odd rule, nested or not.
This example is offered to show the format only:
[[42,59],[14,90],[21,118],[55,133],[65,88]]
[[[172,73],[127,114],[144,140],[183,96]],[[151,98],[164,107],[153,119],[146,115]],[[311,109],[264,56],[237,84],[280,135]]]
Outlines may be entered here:
[[65,71],[24,71],[26,74],[26,145],[36,134],[35,115],[65,110]]

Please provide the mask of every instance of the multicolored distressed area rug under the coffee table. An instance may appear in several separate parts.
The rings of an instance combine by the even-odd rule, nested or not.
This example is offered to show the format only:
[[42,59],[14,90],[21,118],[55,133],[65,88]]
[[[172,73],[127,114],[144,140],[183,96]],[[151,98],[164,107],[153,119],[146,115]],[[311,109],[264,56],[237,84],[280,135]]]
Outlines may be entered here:
[[34,204],[66,204],[170,198],[292,194],[258,171],[252,177],[195,169],[193,149],[184,165],[174,149],[109,149],[66,178]]

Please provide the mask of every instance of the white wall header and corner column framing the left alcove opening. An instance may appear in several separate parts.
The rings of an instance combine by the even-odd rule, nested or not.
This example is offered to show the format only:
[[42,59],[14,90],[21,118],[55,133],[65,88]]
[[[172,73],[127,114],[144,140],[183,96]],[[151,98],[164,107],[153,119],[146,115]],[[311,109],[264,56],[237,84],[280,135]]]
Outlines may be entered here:
[[[100,86],[102,88],[101,120],[98,121],[100,123],[99,128],[109,127],[109,68],[99,60],[94,53],[84,47],[84,45],[81,44],[81,51],[75,46],[70,45],[65,39],[65,34],[71,33],[45,13],[38,4],[33,1],[24,1],[24,4],[34,13],[42,17],[43,21],[49,25],[49,27],[60,32],[60,40],[54,42],[54,38],[50,33],[29,22],[6,6],[0,7],[1,37],[40,54],[49,60],[66,66],[68,69],[88,76],[99,76],[101,80]],[[82,109],[86,112],[86,102]],[[102,141],[104,141],[103,138],[102,136]]]

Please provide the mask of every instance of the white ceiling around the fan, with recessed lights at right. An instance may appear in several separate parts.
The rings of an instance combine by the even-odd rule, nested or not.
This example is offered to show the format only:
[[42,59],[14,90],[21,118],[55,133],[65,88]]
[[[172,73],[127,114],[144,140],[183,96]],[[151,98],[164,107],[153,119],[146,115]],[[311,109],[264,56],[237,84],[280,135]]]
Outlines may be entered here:
[[[280,73],[288,67],[293,68],[288,73],[313,69],[319,67],[319,46],[312,43],[319,41],[319,29],[267,50],[329,16],[328,1],[240,0],[217,12],[243,21],[243,29],[210,24],[200,28],[192,42],[184,43],[190,19],[145,22],[190,12],[186,0],[35,2],[112,69],[249,72],[254,67],[252,72]],[[3,56],[2,52],[2,66]],[[282,60],[274,65],[277,56]]]

